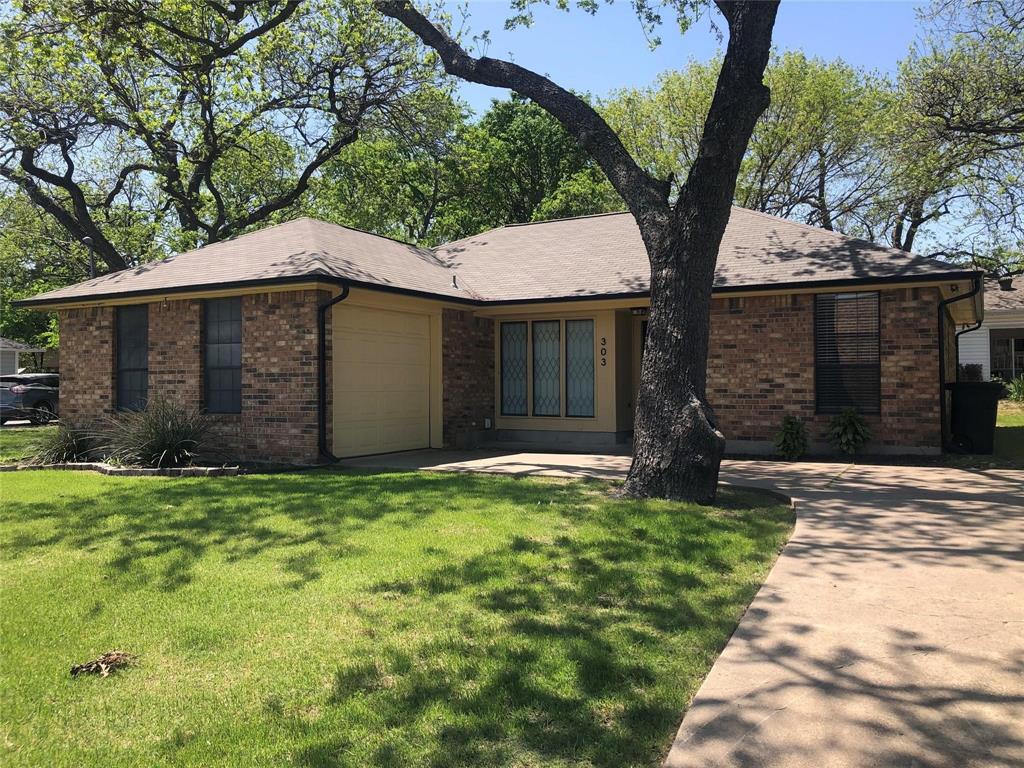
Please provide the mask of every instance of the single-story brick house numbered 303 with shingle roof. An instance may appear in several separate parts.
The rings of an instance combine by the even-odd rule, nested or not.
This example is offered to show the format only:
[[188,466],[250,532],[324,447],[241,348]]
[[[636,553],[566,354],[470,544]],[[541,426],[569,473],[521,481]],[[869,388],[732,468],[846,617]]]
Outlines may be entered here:
[[[218,415],[244,460],[486,441],[628,445],[649,266],[632,216],[500,227],[429,250],[308,218],[23,302],[55,310],[61,412],[160,395]],[[815,449],[854,407],[881,453],[938,453],[977,272],[734,208],[709,398],[728,450],[786,415]]]

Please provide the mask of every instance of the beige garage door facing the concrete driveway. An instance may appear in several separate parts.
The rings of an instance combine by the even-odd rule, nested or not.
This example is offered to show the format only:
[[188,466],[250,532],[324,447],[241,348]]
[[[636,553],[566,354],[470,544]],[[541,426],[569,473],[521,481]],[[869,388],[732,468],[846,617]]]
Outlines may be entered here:
[[338,304],[334,312],[334,453],[430,445],[430,318]]

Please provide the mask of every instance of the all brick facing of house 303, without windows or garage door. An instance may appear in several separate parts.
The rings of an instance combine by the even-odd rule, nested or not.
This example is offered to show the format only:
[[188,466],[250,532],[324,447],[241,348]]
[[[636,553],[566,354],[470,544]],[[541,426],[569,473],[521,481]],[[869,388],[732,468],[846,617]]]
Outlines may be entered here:
[[[881,292],[882,413],[865,417],[874,446],[936,450],[940,439],[937,289]],[[325,291],[242,297],[242,413],[218,415],[225,457],[296,464],[321,460],[317,446],[317,307]],[[830,416],[815,414],[814,297],[717,298],[712,304],[708,392],[730,440],[770,442],[783,416],[803,420],[825,442]],[[150,303],[150,396],[203,404],[202,301]],[[60,412],[73,427],[114,413],[115,310],[59,312]],[[330,333],[331,324],[328,324]],[[951,338],[951,334],[950,334]],[[330,355],[330,339],[328,350]],[[955,365],[950,356],[949,366]],[[330,414],[330,358],[328,360]],[[471,310],[441,314],[442,439],[470,447],[495,417],[495,323]],[[332,420],[328,420],[330,430]],[[331,444],[330,433],[328,444]]]

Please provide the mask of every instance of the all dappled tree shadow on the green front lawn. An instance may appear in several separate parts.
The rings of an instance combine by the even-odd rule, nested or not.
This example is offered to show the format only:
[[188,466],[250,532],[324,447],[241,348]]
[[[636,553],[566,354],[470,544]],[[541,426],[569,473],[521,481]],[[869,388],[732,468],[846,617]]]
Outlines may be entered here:
[[[317,721],[268,702],[267,737],[299,734],[294,758],[310,768],[653,765],[792,513],[735,489],[723,490],[720,510],[595,505],[604,487],[446,473],[119,478],[52,507],[4,506],[14,557],[115,545],[115,578],[170,592],[225,553],[229,562],[270,557],[301,587],[322,575],[311,545],[345,557],[369,526],[381,523],[382,536],[422,527],[415,575],[378,578],[351,596],[346,607],[367,632],[338,652],[346,660],[316,701]],[[497,503],[550,506],[559,519],[475,556],[430,541],[439,510]]]

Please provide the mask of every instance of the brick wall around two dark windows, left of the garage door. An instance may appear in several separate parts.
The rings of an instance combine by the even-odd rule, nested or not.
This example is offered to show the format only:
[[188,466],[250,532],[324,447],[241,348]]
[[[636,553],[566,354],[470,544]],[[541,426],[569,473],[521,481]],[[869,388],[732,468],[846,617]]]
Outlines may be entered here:
[[[316,309],[327,298],[324,291],[242,297],[242,413],[218,414],[214,427],[225,458],[319,460]],[[88,426],[113,413],[114,310],[63,310],[59,319],[61,418]],[[201,324],[201,301],[150,304],[151,397],[202,406]]]

